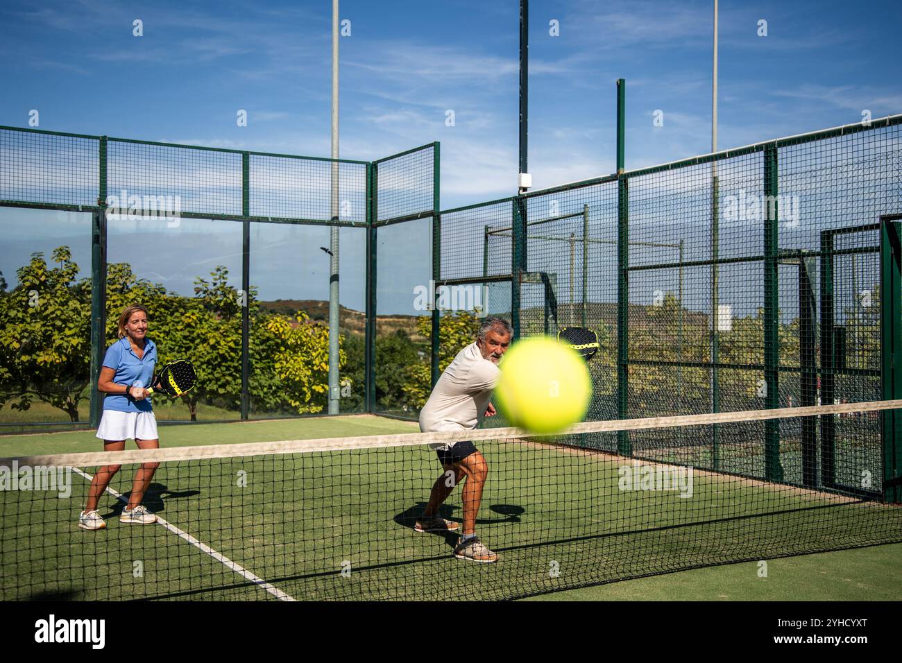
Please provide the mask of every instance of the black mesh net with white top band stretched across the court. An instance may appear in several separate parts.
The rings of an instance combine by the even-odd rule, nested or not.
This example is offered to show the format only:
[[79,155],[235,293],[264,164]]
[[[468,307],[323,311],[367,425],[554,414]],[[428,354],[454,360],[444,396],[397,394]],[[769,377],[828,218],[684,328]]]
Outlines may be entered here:
[[[881,502],[899,407],[0,459],[0,599],[509,599],[902,541],[902,510]],[[488,464],[476,532],[493,564],[454,558],[457,533],[414,529],[442,474],[431,445],[463,439]],[[124,524],[142,463],[160,464],[143,498],[158,520]],[[85,531],[103,465],[121,465],[107,527]],[[439,515],[462,520],[459,486]]]

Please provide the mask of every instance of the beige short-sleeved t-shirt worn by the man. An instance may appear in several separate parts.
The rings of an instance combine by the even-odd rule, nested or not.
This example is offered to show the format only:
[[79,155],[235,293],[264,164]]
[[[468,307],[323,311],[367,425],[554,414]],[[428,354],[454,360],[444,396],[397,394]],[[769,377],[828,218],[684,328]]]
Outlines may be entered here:
[[419,429],[430,433],[479,426],[500,373],[498,366],[485,359],[475,343],[467,345],[438,378],[429,400],[419,412]]

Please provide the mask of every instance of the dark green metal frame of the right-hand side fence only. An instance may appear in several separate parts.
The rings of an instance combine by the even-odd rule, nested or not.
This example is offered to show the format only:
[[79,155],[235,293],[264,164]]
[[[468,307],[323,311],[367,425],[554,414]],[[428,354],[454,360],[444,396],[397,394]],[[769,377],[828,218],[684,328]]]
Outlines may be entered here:
[[[593,178],[588,180],[580,180],[577,182],[573,182],[566,185],[561,185],[554,188],[549,189],[538,189],[529,191],[520,196],[513,196],[511,198],[501,198],[498,200],[492,200],[490,202],[479,203],[474,205],[469,205],[465,207],[456,207],[455,209],[446,210],[444,214],[450,214],[452,212],[462,212],[466,210],[476,209],[479,207],[489,207],[492,205],[497,205],[499,203],[510,203],[511,205],[511,274],[502,274],[502,275],[494,275],[492,277],[488,276],[489,273],[489,265],[487,264],[487,256],[488,251],[485,248],[485,244],[487,243],[487,238],[491,234],[497,234],[499,232],[499,228],[495,228],[492,226],[484,226],[483,227],[483,276],[472,277],[472,278],[464,278],[464,279],[454,279],[454,280],[445,280],[439,281],[442,283],[478,283],[478,282],[491,282],[491,281],[511,281],[513,287],[511,288],[511,315],[512,322],[514,325],[515,335],[520,336],[520,285],[523,281],[523,275],[527,272],[528,262],[526,260],[526,243],[528,237],[532,237],[533,235],[528,234],[528,229],[531,226],[542,223],[542,220],[538,220],[536,222],[530,222],[526,218],[526,202],[529,198],[536,196],[547,196],[548,194],[553,194],[557,192],[573,192],[576,189],[588,188],[598,184],[610,183],[612,181],[617,181],[618,185],[618,198],[617,198],[617,223],[618,223],[618,239],[617,239],[617,274],[618,274],[618,283],[617,283],[617,411],[618,416],[621,419],[625,419],[629,417],[629,371],[630,365],[658,365],[658,366],[676,366],[676,367],[692,367],[692,368],[703,368],[708,369],[712,373],[712,410],[713,412],[720,410],[720,394],[719,394],[719,380],[718,380],[718,372],[720,369],[742,369],[742,370],[754,370],[760,371],[763,373],[765,377],[765,385],[766,385],[766,406],[768,408],[777,408],[779,407],[779,376],[780,373],[787,374],[798,374],[799,381],[801,386],[801,391],[803,391],[803,399],[799,403],[799,405],[815,405],[817,403],[816,394],[817,394],[817,384],[818,381],[821,381],[821,395],[823,402],[833,402],[833,382],[834,376],[839,373],[847,374],[847,375],[858,375],[858,376],[874,376],[878,375],[880,372],[874,369],[869,368],[859,368],[846,366],[844,364],[837,365],[836,364],[836,345],[839,343],[839,340],[836,336],[839,332],[834,328],[833,325],[833,256],[848,254],[848,253],[876,253],[879,251],[879,248],[876,246],[871,247],[856,247],[851,249],[844,249],[842,251],[834,251],[833,250],[833,236],[853,232],[857,230],[864,229],[873,229],[879,226],[871,225],[871,226],[859,226],[857,228],[841,228],[841,229],[832,229],[829,231],[824,231],[822,233],[822,246],[820,252],[814,251],[798,251],[798,250],[780,250],[778,244],[778,234],[779,234],[779,224],[778,224],[778,214],[779,210],[777,207],[778,200],[778,189],[779,189],[779,180],[778,180],[778,168],[779,168],[779,151],[781,148],[791,147],[803,143],[813,143],[816,141],[823,141],[830,138],[835,138],[842,135],[849,134],[859,134],[861,132],[873,131],[875,129],[880,129],[884,127],[896,126],[902,124],[902,115],[894,115],[887,118],[881,118],[879,120],[875,120],[871,122],[869,125],[864,124],[851,124],[843,127],[837,127],[833,129],[827,129],[824,131],[813,132],[810,134],[802,134],[798,136],[791,136],[788,138],[782,138],[775,141],[768,141],[764,143],[756,143],[753,145],[747,145],[744,147],[740,147],[733,150],[728,150],[724,152],[716,152],[713,154],[706,154],[703,156],[693,157],[691,159],[674,161],[672,163],[663,164],[660,166],[655,166],[651,168],[645,168],[640,170],[630,170],[627,171],[624,168],[624,143],[625,143],[625,83],[621,80],[618,81],[618,103],[617,103],[617,115],[618,115],[618,141],[617,141],[617,172],[613,175]],[[769,196],[770,200],[773,200],[773,204],[769,204],[767,207],[767,216],[765,218],[765,222],[763,224],[762,232],[762,243],[764,245],[764,253],[761,255],[754,256],[741,256],[741,257],[728,257],[722,258],[719,253],[719,247],[717,246],[716,241],[712,246],[712,257],[710,259],[704,260],[693,260],[690,262],[686,262],[681,259],[678,262],[655,262],[652,264],[646,263],[641,266],[630,267],[629,264],[629,180],[636,177],[647,176],[658,172],[665,172],[668,170],[677,170],[691,166],[698,166],[701,164],[712,164],[712,166],[716,166],[716,164],[720,161],[726,161],[732,159],[734,157],[750,155],[750,154],[760,154],[761,159],[761,182],[762,182],[762,190],[764,196]],[[717,198],[719,196],[719,181],[717,176],[717,171],[713,168],[713,182],[712,182],[712,191],[713,191],[713,213],[712,213],[712,232],[713,237],[718,235],[718,226],[719,226],[719,210],[717,205]],[[884,217],[885,219],[890,217]],[[893,219],[898,219],[900,216],[893,216]],[[888,226],[884,225],[884,229],[886,230]],[[509,230],[509,228],[502,228],[501,230]],[[888,231],[887,231],[888,232]],[[584,247],[587,246],[588,243],[584,243]],[[821,261],[821,269],[820,269],[820,292],[821,292],[821,308],[822,308],[822,320],[820,326],[818,326],[817,320],[817,302],[815,300],[815,279],[818,278],[818,274],[816,265],[817,260]],[[888,265],[890,264],[888,258],[884,258],[884,267],[885,270],[888,270]],[[722,265],[730,265],[730,264],[738,264],[743,262],[757,262],[759,264],[763,264],[764,266],[764,345],[765,345],[765,356],[763,364],[736,364],[732,362],[723,362],[719,357],[719,341],[718,341],[718,329],[716,324],[717,318],[717,289],[718,289],[718,270]],[[798,270],[798,297],[799,297],[799,365],[791,366],[791,365],[781,365],[780,363],[780,354],[779,354],[779,269],[781,265],[791,265]],[[712,272],[712,288],[714,297],[713,297],[713,343],[712,343],[712,355],[710,361],[695,361],[695,362],[680,362],[680,361],[650,361],[650,360],[631,360],[629,356],[629,307],[628,307],[628,295],[629,295],[629,277],[630,272],[633,271],[644,271],[644,270],[660,270],[662,268],[679,268],[685,269],[689,267],[703,267],[707,266],[711,268]],[[897,265],[896,265],[897,269]],[[440,270],[439,270],[440,273]],[[900,279],[902,281],[902,279]],[[887,294],[888,287],[886,287],[886,282],[884,287],[884,296],[889,297]],[[827,303],[829,299],[829,304]],[[885,305],[884,316],[891,316],[893,320],[895,320],[895,324],[898,325],[898,308],[900,308],[900,301],[898,297],[892,299],[892,303],[896,306],[895,309],[890,308],[888,304]],[[894,312],[895,311],[895,312]],[[887,322],[887,324],[889,324]],[[817,357],[815,354],[815,346],[817,342],[816,335],[818,333],[818,329],[820,329],[821,335],[821,346],[824,348],[823,350],[823,365],[820,369],[817,366]],[[887,334],[884,333],[884,336],[887,337]],[[893,336],[898,341],[898,335]],[[888,341],[887,341],[888,342]],[[884,352],[884,361],[888,361],[888,356],[897,356],[899,357],[899,362],[902,362],[902,348],[899,349],[896,355],[892,355],[891,353]],[[883,372],[886,376],[889,376],[888,367],[884,367]],[[898,382],[892,382],[895,384],[894,389],[896,391],[887,391],[885,382],[885,391],[884,398],[900,398],[902,397],[902,365],[897,367],[897,373],[894,373],[896,377],[893,378],[885,378],[886,380],[895,380]],[[899,485],[899,468],[902,467],[902,459],[900,459],[900,445],[897,443],[897,439],[900,438],[899,431],[900,427],[902,427],[902,416],[895,418],[895,414],[889,412],[887,415],[888,424],[887,431],[884,436],[885,440],[885,458],[884,458],[884,483],[885,483],[885,499],[888,501],[897,500],[902,491],[902,487]],[[817,425],[818,419],[804,419],[801,421],[801,439],[802,439],[802,456],[803,456],[803,475],[802,475],[802,484],[806,487],[820,487],[821,489],[827,490],[835,490],[841,493],[854,493],[861,494],[861,496],[873,498],[877,495],[874,492],[855,490],[851,486],[847,485],[838,485],[834,482],[833,476],[833,418],[832,417],[822,417],[820,419],[821,426],[821,465],[818,468],[816,463],[817,458]],[[713,441],[712,441],[712,460],[713,460],[713,469],[718,469],[719,467],[719,441],[718,441],[718,430],[716,426],[713,428]],[[893,436],[889,436],[888,433],[893,431]],[[764,442],[764,457],[765,457],[765,474],[766,478],[769,481],[781,483],[784,482],[785,474],[784,468],[780,461],[780,448],[779,448],[779,440],[780,440],[780,428],[779,421],[769,420],[765,423],[765,442]],[[625,433],[618,434],[618,444],[617,444],[618,453],[624,456],[630,456],[632,454],[632,447],[630,445],[630,438]],[[821,478],[818,481],[818,470],[820,470]]]

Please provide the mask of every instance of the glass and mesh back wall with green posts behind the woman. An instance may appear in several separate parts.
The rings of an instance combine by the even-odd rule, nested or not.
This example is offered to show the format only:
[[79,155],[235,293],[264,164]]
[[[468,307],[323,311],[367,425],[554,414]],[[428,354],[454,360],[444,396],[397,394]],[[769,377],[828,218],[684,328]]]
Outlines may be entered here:
[[[96,425],[99,364],[133,302],[152,311],[161,360],[189,356],[198,369],[189,399],[156,397],[159,419],[324,412],[330,226],[340,227],[341,409],[403,410],[401,383],[368,401],[391,376],[376,368],[375,330],[402,332],[403,352],[428,366],[413,295],[392,281],[428,283],[437,152],[332,161],[0,127],[0,430]],[[411,259],[407,235],[422,224]]]

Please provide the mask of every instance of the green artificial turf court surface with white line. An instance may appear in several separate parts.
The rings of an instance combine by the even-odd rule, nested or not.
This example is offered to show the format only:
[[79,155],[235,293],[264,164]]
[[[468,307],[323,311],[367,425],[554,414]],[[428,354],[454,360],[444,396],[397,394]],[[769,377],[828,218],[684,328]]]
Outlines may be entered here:
[[[161,445],[415,430],[372,416],[197,424],[161,427]],[[144,503],[168,529],[119,523],[121,502],[112,495],[99,509],[107,529],[78,529],[87,490],[87,476],[79,474],[72,474],[65,498],[0,493],[0,598],[902,598],[902,544],[771,559],[766,577],[757,561],[873,541],[874,531],[898,540],[897,509],[703,473],[695,477],[693,499],[622,492],[620,461],[612,456],[532,443],[480,447],[490,477],[477,531],[501,554],[494,565],[451,557],[455,535],[411,529],[440,471],[428,449],[237,457],[161,465]],[[0,456],[100,448],[93,432],[0,437]],[[127,493],[132,476],[133,467],[124,467],[111,487]],[[458,489],[443,515],[460,520],[460,504]],[[731,558],[748,561],[558,591]],[[268,585],[254,583],[252,574]]]

